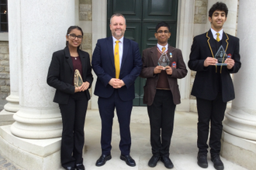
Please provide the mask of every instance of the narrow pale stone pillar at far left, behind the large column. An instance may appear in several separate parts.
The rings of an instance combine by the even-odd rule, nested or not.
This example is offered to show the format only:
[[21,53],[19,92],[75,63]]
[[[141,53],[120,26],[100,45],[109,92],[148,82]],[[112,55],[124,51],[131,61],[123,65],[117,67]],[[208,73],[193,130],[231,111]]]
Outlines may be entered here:
[[[11,93],[6,97],[8,101],[4,110],[0,112],[0,125],[12,124],[14,122],[13,114],[19,110],[19,62],[20,57],[20,15],[17,4],[11,5],[9,10],[9,68]],[[9,12],[8,10],[8,12]]]

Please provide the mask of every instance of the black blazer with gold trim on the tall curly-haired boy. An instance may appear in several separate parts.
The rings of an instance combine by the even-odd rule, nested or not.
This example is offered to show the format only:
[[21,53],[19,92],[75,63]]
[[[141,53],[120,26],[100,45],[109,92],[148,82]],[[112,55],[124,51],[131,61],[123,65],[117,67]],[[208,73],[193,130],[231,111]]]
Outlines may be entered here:
[[[189,56],[189,69],[196,71],[194,84],[191,94],[206,100],[214,100],[218,94],[218,87],[221,88],[223,101],[227,102],[233,100],[234,86],[230,73],[237,73],[240,69],[240,54],[239,54],[239,39],[223,32],[222,46],[226,49],[227,55],[234,59],[234,67],[227,69],[227,66],[222,66],[218,73],[220,73],[220,81],[218,80],[218,73],[216,73],[216,66],[203,66],[204,60],[208,56],[214,57],[217,50],[215,46],[216,40],[213,38],[211,30],[202,35],[195,36],[191,53]],[[219,83],[220,84],[219,84]]]

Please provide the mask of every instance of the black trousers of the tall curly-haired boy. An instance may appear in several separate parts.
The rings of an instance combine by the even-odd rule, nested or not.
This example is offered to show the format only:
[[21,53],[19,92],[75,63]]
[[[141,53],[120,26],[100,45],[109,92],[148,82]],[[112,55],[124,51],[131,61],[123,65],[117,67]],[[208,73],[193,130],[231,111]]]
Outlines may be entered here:
[[[227,102],[223,102],[222,95],[218,94],[215,100],[204,100],[196,98],[199,122],[197,124],[197,147],[199,153],[207,153],[207,140],[209,136],[209,147],[211,155],[219,155],[221,148],[222,121],[224,118]],[[209,122],[210,134],[209,134]]]

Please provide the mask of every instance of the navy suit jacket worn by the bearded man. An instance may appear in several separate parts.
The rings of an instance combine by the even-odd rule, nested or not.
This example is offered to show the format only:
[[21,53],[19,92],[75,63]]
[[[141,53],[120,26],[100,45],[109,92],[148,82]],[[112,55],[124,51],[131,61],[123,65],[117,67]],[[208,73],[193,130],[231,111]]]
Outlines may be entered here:
[[[125,86],[118,89],[122,100],[133,100],[135,97],[134,81],[139,76],[141,68],[141,56],[137,42],[123,38],[123,59],[119,79],[123,80]],[[92,69],[98,76],[95,95],[110,97],[114,88],[109,85],[109,80],[116,77],[112,36],[98,40],[92,55]]]

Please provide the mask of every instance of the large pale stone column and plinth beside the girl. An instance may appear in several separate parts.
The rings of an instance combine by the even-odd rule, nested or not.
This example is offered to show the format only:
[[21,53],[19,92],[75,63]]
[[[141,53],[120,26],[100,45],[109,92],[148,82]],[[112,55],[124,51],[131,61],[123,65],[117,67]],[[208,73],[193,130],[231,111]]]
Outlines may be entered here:
[[[9,13],[19,14],[22,40],[20,109],[14,124],[0,127],[0,145],[2,155],[24,169],[61,168],[61,114],[53,102],[55,90],[47,85],[47,72],[52,53],[64,49],[67,28],[75,22],[74,10],[74,1],[9,0]],[[12,38],[10,42],[16,41]]]

